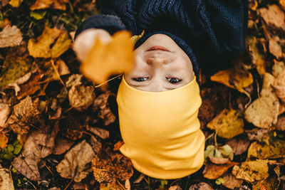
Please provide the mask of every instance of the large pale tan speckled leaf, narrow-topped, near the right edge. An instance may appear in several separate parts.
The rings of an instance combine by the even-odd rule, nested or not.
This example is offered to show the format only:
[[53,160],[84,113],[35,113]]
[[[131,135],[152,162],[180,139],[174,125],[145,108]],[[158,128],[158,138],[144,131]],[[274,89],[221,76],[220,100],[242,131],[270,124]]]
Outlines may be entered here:
[[254,100],[244,112],[244,118],[260,128],[269,128],[276,124],[279,113],[279,100],[271,88],[273,75],[264,75],[261,97]]

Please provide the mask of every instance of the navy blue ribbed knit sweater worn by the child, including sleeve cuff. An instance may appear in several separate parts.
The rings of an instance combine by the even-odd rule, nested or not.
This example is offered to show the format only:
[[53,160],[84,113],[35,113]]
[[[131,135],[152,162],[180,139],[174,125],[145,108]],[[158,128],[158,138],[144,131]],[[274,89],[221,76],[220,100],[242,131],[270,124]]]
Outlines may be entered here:
[[76,36],[87,28],[127,29],[133,35],[144,30],[137,48],[152,34],[164,33],[187,53],[196,74],[198,63],[211,72],[245,48],[247,0],[103,0],[100,9],[109,16],[86,19]]

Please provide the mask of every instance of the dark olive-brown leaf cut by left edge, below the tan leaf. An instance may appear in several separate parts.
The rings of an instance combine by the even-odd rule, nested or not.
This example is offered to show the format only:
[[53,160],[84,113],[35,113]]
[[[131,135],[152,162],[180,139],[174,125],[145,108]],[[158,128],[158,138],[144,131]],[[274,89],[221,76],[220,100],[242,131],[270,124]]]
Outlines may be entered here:
[[29,73],[31,73],[32,68],[33,62],[31,57],[28,56],[26,46],[9,48],[4,63],[1,66],[0,91],[4,90],[6,85],[14,83],[26,74],[30,75]]

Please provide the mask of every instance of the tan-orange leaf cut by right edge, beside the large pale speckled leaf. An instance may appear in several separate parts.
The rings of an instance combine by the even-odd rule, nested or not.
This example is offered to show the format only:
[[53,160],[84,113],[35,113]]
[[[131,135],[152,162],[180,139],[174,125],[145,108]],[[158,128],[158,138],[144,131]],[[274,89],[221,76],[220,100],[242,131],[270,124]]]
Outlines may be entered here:
[[285,68],[275,78],[273,88],[281,102],[285,103]]

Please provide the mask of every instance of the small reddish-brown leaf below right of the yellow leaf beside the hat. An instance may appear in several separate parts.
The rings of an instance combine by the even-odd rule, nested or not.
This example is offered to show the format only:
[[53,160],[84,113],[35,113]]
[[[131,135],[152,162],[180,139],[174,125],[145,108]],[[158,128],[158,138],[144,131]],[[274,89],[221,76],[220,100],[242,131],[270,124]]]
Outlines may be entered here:
[[247,152],[247,149],[249,147],[249,139],[247,137],[247,134],[242,134],[232,139],[229,139],[229,141],[227,141],[227,144],[232,147],[234,155],[240,155],[244,152]]

